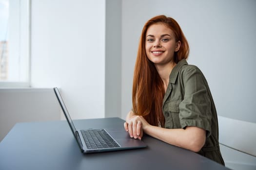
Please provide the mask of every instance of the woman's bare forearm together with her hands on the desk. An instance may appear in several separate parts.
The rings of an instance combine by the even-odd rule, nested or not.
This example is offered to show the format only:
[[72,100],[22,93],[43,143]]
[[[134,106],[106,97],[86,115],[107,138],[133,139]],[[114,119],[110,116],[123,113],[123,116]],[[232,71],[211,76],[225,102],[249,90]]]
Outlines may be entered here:
[[188,126],[186,129],[160,128],[150,125],[141,116],[135,116],[132,111],[127,114],[124,128],[131,137],[142,137],[143,130],[149,136],[194,152],[198,152],[203,147],[206,138],[204,129],[195,126]]

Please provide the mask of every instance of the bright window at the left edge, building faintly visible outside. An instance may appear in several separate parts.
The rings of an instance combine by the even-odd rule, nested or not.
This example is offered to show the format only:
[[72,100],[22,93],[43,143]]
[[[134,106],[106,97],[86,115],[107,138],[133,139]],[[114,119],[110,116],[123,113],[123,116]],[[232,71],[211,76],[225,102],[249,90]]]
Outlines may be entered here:
[[30,85],[30,0],[0,0],[0,87]]

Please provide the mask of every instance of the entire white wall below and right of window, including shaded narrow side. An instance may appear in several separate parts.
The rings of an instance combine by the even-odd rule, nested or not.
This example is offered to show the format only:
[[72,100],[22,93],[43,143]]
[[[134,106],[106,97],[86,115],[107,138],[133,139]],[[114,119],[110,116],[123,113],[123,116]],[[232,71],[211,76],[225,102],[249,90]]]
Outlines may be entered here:
[[121,1],[31,5],[32,88],[0,89],[0,141],[17,122],[65,119],[54,86],[73,119],[120,117]]

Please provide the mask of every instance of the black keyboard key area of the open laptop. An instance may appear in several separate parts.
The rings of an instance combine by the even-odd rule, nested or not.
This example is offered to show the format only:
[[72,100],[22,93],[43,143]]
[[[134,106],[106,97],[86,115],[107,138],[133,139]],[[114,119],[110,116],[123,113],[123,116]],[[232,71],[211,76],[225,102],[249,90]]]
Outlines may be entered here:
[[88,149],[120,147],[104,129],[81,130],[81,133]]

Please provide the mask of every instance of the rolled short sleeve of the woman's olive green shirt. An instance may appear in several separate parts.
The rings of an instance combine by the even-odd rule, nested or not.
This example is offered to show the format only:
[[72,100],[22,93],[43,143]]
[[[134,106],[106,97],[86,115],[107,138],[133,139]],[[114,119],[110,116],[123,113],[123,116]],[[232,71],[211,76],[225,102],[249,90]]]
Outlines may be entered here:
[[196,66],[187,65],[180,70],[184,85],[184,99],[179,104],[179,119],[182,128],[196,126],[211,135],[211,102],[207,82]]

